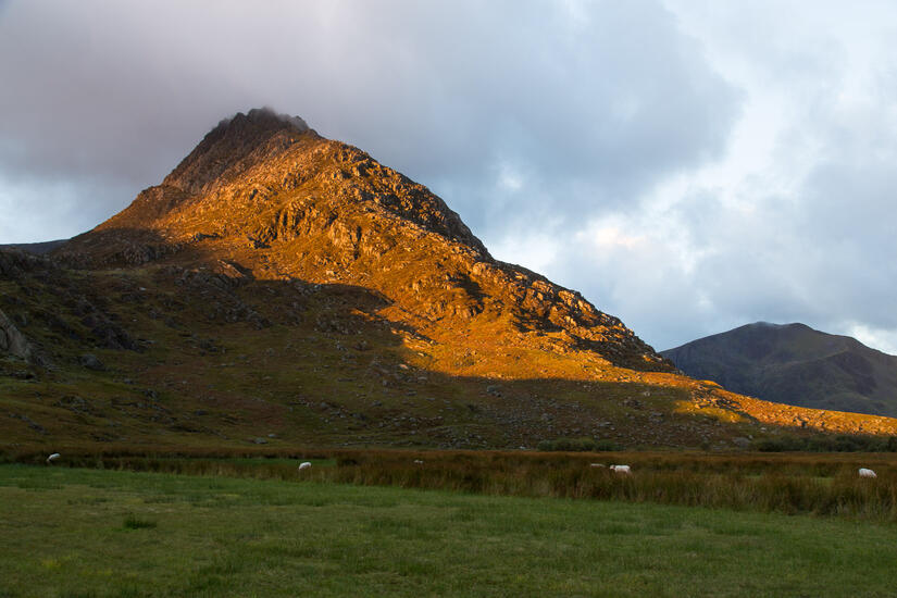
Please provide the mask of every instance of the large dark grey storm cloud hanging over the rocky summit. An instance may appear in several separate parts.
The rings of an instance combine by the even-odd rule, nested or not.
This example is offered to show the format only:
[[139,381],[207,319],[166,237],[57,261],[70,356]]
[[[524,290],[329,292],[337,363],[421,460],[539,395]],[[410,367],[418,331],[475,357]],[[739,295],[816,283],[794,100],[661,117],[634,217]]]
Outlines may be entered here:
[[[15,115],[0,123],[0,176],[108,179],[80,228],[252,105],[369,150],[484,236],[513,213],[625,201],[719,152],[735,109],[650,1],[23,1],[0,21],[0,55],[14,82],[0,110]],[[531,192],[502,197],[501,167]]]

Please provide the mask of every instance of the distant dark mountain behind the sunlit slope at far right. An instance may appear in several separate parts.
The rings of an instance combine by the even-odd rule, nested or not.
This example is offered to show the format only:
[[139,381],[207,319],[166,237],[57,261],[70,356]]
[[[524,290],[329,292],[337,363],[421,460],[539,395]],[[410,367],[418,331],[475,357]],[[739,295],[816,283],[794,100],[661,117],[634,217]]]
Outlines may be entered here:
[[697,378],[768,401],[897,416],[897,357],[803,324],[757,322],[662,351]]

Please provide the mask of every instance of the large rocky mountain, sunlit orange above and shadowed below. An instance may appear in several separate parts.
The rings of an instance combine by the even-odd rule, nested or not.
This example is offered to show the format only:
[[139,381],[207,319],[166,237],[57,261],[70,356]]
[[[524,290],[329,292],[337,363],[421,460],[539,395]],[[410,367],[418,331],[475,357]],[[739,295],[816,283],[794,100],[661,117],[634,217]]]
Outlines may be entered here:
[[578,292],[495,260],[426,187],[304,121],[222,121],[45,256],[0,250],[16,446],[744,446],[897,421],[677,372]]

